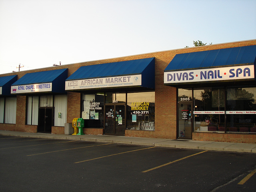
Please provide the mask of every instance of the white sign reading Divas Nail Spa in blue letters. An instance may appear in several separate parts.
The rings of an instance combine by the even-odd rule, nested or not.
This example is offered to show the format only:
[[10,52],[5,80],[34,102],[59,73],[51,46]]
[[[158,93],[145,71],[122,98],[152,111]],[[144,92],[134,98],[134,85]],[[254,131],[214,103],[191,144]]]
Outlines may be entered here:
[[254,65],[164,72],[164,84],[254,79]]

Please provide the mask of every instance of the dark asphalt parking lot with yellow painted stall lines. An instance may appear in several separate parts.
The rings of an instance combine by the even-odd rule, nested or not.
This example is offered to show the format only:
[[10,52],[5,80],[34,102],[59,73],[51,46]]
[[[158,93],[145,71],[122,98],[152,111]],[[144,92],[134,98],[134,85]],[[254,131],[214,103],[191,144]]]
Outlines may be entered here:
[[256,154],[0,136],[0,191],[254,192]]

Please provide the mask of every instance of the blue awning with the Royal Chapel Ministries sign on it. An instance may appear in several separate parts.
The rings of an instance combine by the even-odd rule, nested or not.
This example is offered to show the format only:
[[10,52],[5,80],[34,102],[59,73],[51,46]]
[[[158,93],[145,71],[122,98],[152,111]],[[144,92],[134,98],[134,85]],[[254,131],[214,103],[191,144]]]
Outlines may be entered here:
[[68,69],[27,73],[12,84],[12,94],[64,93]]

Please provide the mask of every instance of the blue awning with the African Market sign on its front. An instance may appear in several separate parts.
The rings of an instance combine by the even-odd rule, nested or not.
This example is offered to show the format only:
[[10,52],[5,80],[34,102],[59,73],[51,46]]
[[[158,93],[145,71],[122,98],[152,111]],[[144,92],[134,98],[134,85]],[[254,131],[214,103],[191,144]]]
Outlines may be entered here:
[[66,90],[155,87],[155,60],[145,58],[82,66],[66,79]]

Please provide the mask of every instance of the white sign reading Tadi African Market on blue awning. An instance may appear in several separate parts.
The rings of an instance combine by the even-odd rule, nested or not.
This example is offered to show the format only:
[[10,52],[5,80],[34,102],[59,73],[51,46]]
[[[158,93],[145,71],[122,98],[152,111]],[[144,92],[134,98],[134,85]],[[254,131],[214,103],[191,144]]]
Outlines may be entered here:
[[65,90],[80,90],[93,88],[140,86],[141,74],[130,76],[104,77],[94,79],[83,79],[66,81]]

